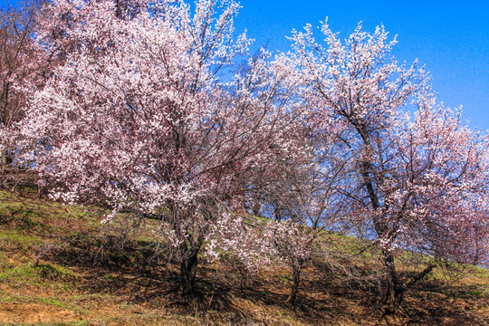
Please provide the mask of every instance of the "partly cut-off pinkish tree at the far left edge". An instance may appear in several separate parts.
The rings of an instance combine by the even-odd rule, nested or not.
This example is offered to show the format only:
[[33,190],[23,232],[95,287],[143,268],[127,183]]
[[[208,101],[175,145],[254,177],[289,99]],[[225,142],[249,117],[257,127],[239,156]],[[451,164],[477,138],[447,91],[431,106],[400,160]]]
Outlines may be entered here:
[[[53,62],[37,51],[32,34],[38,26],[38,2],[21,2],[18,8],[0,11],[0,182],[13,188],[28,175],[19,170],[18,122],[24,118],[24,83],[38,87]],[[19,173],[21,172],[21,173]]]

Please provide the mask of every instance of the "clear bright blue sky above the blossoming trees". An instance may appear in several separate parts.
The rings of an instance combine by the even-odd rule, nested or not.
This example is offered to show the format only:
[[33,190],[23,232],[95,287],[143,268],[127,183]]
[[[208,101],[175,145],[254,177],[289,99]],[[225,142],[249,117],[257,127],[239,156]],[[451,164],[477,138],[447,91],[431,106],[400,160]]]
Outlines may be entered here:
[[[16,0],[0,5],[7,2]],[[285,37],[292,28],[319,26],[326,17],[342,38],[360,21],[369,32],[384,24],[392,37],[398,34],[398,61],[425,64],[437,100],[462,105],[472,128],[489,129],[489,0],[241,0],[241,5],[236,32],[246,28],[257,46],[267,44],[269,50],[287,51]]]

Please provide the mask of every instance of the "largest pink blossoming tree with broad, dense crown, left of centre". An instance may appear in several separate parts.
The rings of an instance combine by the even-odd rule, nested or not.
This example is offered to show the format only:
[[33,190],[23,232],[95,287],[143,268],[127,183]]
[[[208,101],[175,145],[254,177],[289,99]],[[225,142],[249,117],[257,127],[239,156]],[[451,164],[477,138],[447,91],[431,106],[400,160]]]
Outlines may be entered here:
[[193,294],[213,225],[293,149],[294,118],[266,53],[235,64],[249,41],[233,36],[234,1],[197,1],[194,14],[123,4],[53,1],[37,38],[63,64],[34,91],[24,134],[53,198],[161,220]]

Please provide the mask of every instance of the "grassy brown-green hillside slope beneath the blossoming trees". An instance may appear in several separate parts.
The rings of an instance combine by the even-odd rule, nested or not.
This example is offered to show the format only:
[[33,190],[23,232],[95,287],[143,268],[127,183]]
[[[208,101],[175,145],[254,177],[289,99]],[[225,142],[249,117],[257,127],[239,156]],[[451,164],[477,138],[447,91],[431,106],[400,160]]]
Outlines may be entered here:
[[[250,285],[232,264],[201,265],[204,294],[188,305],[175,292],[177,268],[155,255],[156,225],[129,232],[134,225],[120,219],[100,230],[101,214],[0,192],[0,324],[489,324],[489,273],[475,267],[456,278],[436,271],[417,283],[397,319],[381,319],[365,289],[319,264],[306,268],[295,308],[283,303],[289,271],[264,270]],[[336,238],[343,249],[347,243]],[[367,260],[357,264],[369,273]]]

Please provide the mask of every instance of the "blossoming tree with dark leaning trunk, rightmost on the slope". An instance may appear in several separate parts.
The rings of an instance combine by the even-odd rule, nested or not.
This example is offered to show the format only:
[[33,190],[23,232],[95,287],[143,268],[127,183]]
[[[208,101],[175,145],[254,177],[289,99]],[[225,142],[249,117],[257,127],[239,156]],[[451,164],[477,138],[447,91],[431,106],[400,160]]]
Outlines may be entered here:
[[388,42],[383,27],[368,34],[359,24],[344,42],[328,24],[321,32],[324,43],[314,40],[310,25],[292,34],[293,69],[302,78],[299,94],[309,103],[324,175],[340,167],[332,169],[334,191],[328,187],[347,203],[336,211],[343,218],[338,226],[380,249],[388,312],[433,268],[401,279],[396,248],[470,263],[487,253],[487,138],[436,105],[416,62],[394,61],[396,40]]

